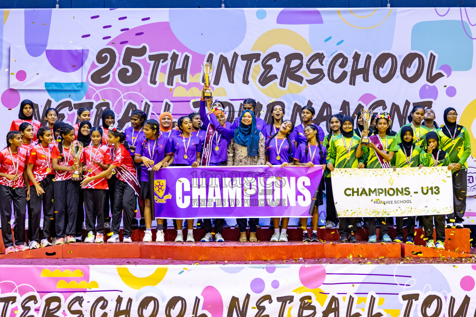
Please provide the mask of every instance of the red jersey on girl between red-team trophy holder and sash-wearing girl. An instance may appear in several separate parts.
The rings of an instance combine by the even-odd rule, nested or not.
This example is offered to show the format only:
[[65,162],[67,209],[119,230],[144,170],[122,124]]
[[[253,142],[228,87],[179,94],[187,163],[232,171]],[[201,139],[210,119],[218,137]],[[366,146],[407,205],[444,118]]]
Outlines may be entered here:
[[[92,151],[92,152],[91,152]],[[94,159],[96,162],[101,162],[105,165],[109,165],[111,163],[111,154],[109,151],[109,147],[106,145],[99,145],[99,148],[93,147],[92,144],[84,148],[84,157],[83,157],[83,171],[84,176],[93,177],[102,173],[103,169],[92,162],[91,158]],[[89,172],[92,169],[92,172]],[[93,189],[109,189],[108,187],[108,180],[103,177],[92,182],[89,182],[83,188],[93,188]]]

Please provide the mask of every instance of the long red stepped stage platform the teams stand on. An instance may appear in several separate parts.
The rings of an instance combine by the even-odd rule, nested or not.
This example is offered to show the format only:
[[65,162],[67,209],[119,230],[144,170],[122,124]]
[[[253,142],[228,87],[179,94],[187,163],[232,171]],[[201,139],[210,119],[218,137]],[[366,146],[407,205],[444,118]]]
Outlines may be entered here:
[[[302,231],[289,229],[289,242],[269,242],[274,231],[258,229],[258,242],[238,242],[239,231],[223,231],[226,242],[199,242],[203,230],[194,230],[196,242],[173,242],[175,230],[166,231],[166,242],[141,241],[144,231],[135,230],[133,243],[70,243],[37,250],[4,254],[0,259],[161,259],[185,261],[260,261],[292,259],[399,259],[399,258],[462,258],[470,254],[469,229],[446,229],[446,250],[395,242],[368,243],[367,230],[357,231],[358,243],[339,243],[337,229],[319,229],[321,242],[302,242]],[[379,232],[377,232],[378,234]],[[184,235],[186,231],[184,230]],[[395,229],[390,236],[395,235]],[[417,229],[416,244],[424,245],[423,230]],[[451,238],[449,238],[451,237]],[[122,239],[122,237],[121,237]],[[153,230],[155,240],[155,230]],[[299,239],[299,240],[298,240]],[[4,250],[4,248],[3,248]]]

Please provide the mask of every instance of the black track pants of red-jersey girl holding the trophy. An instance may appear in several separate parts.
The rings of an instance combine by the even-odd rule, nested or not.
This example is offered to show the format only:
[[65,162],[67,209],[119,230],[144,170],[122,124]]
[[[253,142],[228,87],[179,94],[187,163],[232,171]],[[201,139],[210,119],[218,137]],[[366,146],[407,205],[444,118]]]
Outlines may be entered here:
[[[55,185],[55,221],[56,236],[74,236],[76,231],[76,214],[78,213],[79,181],[56,181]],[[66,222],[66,216],[68,221]]]

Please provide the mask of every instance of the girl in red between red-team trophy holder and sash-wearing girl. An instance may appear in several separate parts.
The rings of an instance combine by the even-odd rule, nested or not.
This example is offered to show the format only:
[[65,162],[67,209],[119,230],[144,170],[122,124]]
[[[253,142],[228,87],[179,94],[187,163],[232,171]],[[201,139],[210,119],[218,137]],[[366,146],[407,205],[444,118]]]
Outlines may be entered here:
[[[84,176],[92,177],[107,170],[111,163],[110,151],[107,145],[101,144],[102,127],[91,129],[91,144],[84,148]],[[99,178],[83,186],[84,209],[86,210],[86,230],[88,235],[84,242],[104,242],[104,202],[108,190],[106,178]],[[97,226],[94,228],[94,225]],[[96,235],[94,235],[96,232]]]

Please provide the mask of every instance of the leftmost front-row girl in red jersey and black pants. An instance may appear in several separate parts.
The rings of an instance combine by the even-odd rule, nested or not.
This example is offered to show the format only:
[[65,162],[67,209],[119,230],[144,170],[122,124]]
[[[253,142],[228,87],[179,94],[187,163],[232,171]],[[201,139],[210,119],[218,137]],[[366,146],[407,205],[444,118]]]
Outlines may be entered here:
[[[27,151],[20,145],[20,132],[10,131],[7,133],[7,147],[0,152],[0,216],[5,253],[28,250],[25,245],[26,203],[29,199],[25,193],[25,180],[28,180],[25,170]],[[15,246],[10,226],[12,202],[16,221]]]

